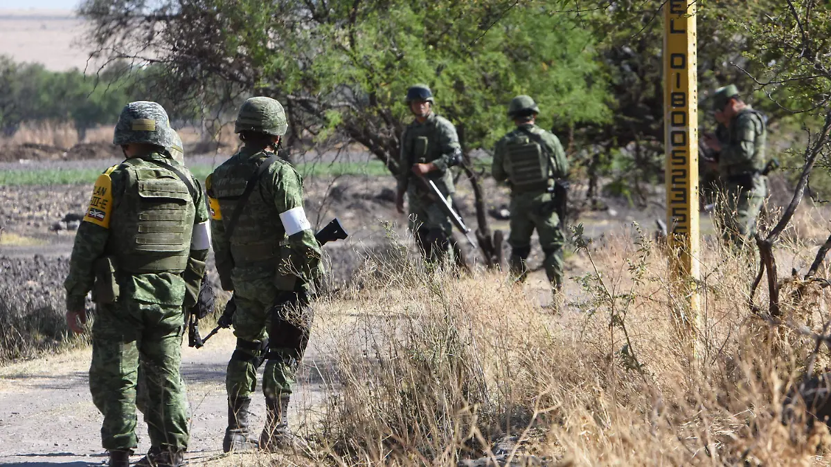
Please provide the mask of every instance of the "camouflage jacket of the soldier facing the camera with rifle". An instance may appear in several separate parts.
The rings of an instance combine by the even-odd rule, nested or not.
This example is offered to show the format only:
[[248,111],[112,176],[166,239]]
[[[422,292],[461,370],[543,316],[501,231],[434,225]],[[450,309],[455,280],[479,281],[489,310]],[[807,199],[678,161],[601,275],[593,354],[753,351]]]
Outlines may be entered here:
[[425,175],[427,179],[435,182],[435,185],[443,194],[451,194],[455,191],[453,185],[453,174],[450,172],[450,161],[461,157],[461,146],[459,136],[456,135],[456,127],[445,117],[437,116],[430,112],[423,123],[414,120],[407,125],[401,135],[401,174],[398,175],[399,193],[409,191],[410,194],[425,194],[417,184],[411,184],[411,178],[415,177],[411,167],[416,164],[432,162],[438,170]]

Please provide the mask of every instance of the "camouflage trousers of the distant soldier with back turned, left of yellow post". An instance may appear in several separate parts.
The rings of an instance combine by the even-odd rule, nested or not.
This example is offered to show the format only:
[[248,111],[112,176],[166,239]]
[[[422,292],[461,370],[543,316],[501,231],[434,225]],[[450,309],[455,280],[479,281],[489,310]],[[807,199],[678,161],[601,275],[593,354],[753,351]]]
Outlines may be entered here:
[[563,230],[560,218],[555,212],[552,195],[547,192],[511,194],[511,232],[508,244],[511,247],[510,268],[520,280],[528,274],[525,260],[531,253],[531,235],[534,229],[539,236],[539,246],[545,258],[543,266],[548,281],[555,288],[563,285]]

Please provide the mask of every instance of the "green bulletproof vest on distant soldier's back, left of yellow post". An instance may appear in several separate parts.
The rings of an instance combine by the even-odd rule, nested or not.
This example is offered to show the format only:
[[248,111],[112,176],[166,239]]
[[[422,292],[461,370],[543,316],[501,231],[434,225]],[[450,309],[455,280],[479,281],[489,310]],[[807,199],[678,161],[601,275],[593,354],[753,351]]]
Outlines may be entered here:
[[548,155],[527,135],[516,135],[505,145],[507,158],[505,171],[514,192],[544,190],[548,188]]

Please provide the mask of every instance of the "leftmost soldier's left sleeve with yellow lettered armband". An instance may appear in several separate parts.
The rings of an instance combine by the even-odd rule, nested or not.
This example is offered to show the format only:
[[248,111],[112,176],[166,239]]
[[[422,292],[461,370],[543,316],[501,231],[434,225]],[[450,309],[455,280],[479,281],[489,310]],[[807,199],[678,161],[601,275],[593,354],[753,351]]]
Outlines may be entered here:
[[81,311],[86,294],[95,283],[94,264],[104,255],[110,238],[110,220],[113,209],[120,201],[119,189],[123,189],[123,172],[111,167],[98,176],[92,189],[90,204],[78,227],[72,254],[69,260],[69,274],[63,282],[66,289],[66,310]]

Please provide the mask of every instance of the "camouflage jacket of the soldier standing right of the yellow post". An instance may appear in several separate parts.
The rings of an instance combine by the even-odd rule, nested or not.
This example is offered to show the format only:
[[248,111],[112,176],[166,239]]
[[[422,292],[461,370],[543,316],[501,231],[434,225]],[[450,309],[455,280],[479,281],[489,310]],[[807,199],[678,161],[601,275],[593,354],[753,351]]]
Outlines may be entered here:
[[764,117],[750,106],[730,120],[727,135],[721,139],[719,173],[731,176],[760,172],[765,169],[767,131]]

